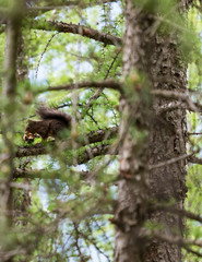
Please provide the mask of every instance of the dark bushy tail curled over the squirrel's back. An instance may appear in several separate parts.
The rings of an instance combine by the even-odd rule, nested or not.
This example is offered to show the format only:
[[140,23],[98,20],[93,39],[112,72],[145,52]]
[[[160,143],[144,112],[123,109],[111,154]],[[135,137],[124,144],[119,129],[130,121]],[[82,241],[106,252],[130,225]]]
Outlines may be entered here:
[[59,111],[57,109],[39,107],[36,112],[41,120],[56,119],[56,120],[62,121],[67,127],[70,127],[71,124],[71,117],[68,114]]

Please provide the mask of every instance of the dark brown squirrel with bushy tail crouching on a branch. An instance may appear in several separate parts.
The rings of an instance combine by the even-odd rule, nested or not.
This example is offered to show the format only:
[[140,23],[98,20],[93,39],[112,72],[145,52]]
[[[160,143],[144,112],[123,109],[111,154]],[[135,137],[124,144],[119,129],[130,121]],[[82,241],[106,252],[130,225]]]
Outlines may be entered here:
[[47,140],[49,136],[59,138],[59,133],[62,130],[71,127],[71,117],[66,112],[40,107],[36,114],[41,120],[28,119],[23,136],[23,140],[26,142],[33,142],[38,135],[43,140]]

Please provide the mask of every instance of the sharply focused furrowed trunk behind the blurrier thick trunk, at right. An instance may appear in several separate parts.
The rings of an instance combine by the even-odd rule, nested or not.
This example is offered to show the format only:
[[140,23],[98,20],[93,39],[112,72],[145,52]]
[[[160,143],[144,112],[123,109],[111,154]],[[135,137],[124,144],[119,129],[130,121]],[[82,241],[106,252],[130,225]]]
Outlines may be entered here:
[[[148,64],[154,88],[182,92],[186,88],[186,67],[177,51],[173,37],[156,37],[153,51],[150,53]],[[166,75],[167,81],[159,82],[159,75]],[[176,84],[169,84],[169,79]],[[179,87],[181,86],[181,88]],[[154,121],[150,131],[150,164],[177,158],[186,154],[186,110],[175,109],[158,115],[158,108],[168,102],[157,98],[153,105]],[[183,209],[186,198],[186,159],[163,166],[150,172],[150,198],[157,203],[175,202],[177,209]],[[163,225],[163,235],[167,237],[182,237],[182,218],[178,215],[167,215],[155,212],[151,221]],[[148,246],[146,261],[181,261],[179,246],[154,240]]]

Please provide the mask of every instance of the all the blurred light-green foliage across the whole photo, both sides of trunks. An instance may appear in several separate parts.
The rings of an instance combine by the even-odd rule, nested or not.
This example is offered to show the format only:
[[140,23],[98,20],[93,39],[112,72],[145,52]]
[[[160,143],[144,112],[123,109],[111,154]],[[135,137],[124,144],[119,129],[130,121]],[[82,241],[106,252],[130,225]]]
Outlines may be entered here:
[[[8,1],[0,0],[0,7],[7,7]],[[5,250],[12,250],[20,245],[27,254],[15,255],[14,261],[96,261],[94,253],[100,260],[111,261],[114,250],[114,226],[110,215],[117,199],[117,187],[114,186],[119,168],[118,157],[105,154],[94,157],[91,148],[99,145],[114,145],[114,138],[106,135],[105,142],[87,144],[86,133],[105,130],[119,124],[119,93],[114,90],[81,88],[74,91],[47,92],[48,86],[60,86],[82,81],[106,79],[120,80],[122,70],[122,49],[105,46],[81,35],[56,33],[54,31],[32,29],[35,21],[62,21],[68,24],[81,24],[118,37],[123,36],[123,7],[121,3],[95,4],[94,1],[81,1],[76,8],[68,7],[55,11],[41,10],[38,17],[24,20],[23,27],[23,69],[27,76],[17,83],[16,105],[0,98],[0,111],[7,106],[8,111],[15,111],[13,119],[13,144],[31,150],[34,146],[47,146],[46,156],[29,156],[17,158],[15,167],[22,170],[40,170],[39,178],[29,180],[32,186],[32,206],[26,215],[21,213],[16,221],[21,222],[10,233],[0,228],[0,243]],[[34,3],[33,7],[45,7],[47,0]],[[63,0],[52,0],[51,4],[64,4]],[[178,34],[180,51],[189,66],[189,88],[201,88],[201,14],[197,9],[189,11],[187,21],[177,12],[176,1],[170,0],[135,0],[134,3],[144,12],[150,12],[154,19],[153,33],[161,37]],[[0,34],[0,76],[3,76],[4,33]],[[21,67],[22,67],[21,64]],[[180,69],[180,64],[179,64]],[[1,83],[0,83],[1,88]],[[150,108],[150,84],[143,72],[133,70],[123,86],[128,102],[142,108]],[[96,97],[96,98],[95,98]],[[195,96],[193,97],[195,99]],[[197,100],[197,99],[195,99]],[[35,111],[39,105],[57,107],[70,114],[78,120],[75,130],[56,141],[56,146],[35,139],[31,144],[22,140],[27,119],[38,119]],[[135,108],[134,108],[135,109]],[[144,117],[144,115],[143,115]],[[141,129],[141,119],[134,117],[131,134],[139,145],[145,144],[148,133]],[[11,119],[12,120],[12,119]],[[131,120],[131,119],[130,119]],[[201,132],[201,119],[197,114],[189,115],[189,132]],[[11,132],[10,132],[11,133]],[[9,138],[12,138],[8,135]],[[82,139],[81,139],[82,138]],[[190,136],[191,145],[201,146],[201,136]],[[135,154],[144,154],[144,147],[136,148]],[[191,150],[193,150],[192,146]],[[0,150],[7,154],[0,136]],[[116,148],[117,150],[117,148]],[[82,163],[86,155],[90,160]],[[83,160],[84,162],[84,160]],[[2,165],[1,178],[8,170]],[[202,212],[201,205],[201,167],[189,168],[187,186],[189,188],[186,207],[194,213]],[[94,177],[96,171],[96,178]],[[36,174],[35,174],[36,175]],[[50,178],[50,175],[52,177]],[[22,188],[24,179],[16,179]],[[14,190],[16,209],[22,209],[23,189]],[[171,204],[171,203],[170,203]],[[22,226],[22,223],[26,225]],[[201,238],[201,225],[188,219],[186,236]],[[145,224],[151,230],[161,229],[163,225]],[[7,237],[4,237],[7,236]],[[198,250],[200,251],[200,250]],[[81,258],[82,253],[82,258]],[[93,253],[93,255],[92,255]],[[198,261],[192,254],[186,254],[187,261]]]

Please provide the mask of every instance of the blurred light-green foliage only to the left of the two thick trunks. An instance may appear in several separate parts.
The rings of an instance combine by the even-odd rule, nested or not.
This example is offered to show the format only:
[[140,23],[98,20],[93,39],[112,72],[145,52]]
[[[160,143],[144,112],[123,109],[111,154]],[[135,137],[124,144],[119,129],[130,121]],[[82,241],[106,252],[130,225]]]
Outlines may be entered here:
[[[92,1],[93,2],[93,1]],[[41,7],[43,7],[41,2]],[[52,3],[54,4],[54,3]],[[108,16],[108,14],[111,13]],[[95,29],[116,36],[122,36],[122,14],[112,13],[112,8],[92,5],[87,9],[61,9],[55,12],[45,12],[41,20],[56,20],[66,23],[81,23]],[[48,86],[58,86],[82,81],[97,81],[109,78],[119,79],[121,75],[121,49],[92,41],[73,34],[56,34],[28,29],[33,21],[26,20],[23,29],[24,57],[23,67],[28,69],[28,80],[17,84],[17,109],[15,118],[15,144],[24,148],[32,148],[38,144],[48,146],[49,142],[35,139],[27,144],[22,140],[24,127],[28,118],[38,119],[35,114],[39,105],[61,107],[63,111],[74,116],[74,96],[76,96],[76,118],[79,119],[76,138],[82,134],[108,129],[119,123],[119,112],[116,107],[119,104],[119,93],[112,90],[103,90],[96,99],[92,97],[97,92],[94,88],[81,88],[71,92],[44,92]],[[0,35],[2,40],[4,35]],[[0,63],[3,62],[3,45],[1,41]],[[2,58],[2,59],[1,59]],[[3,67],[1,67],[3,68]],[[23,120],[22,120],[23,119]],[[86,143],[85,136],[81,144]],[[64,146],[69,146],[68,148]],[[112,144],[108,139],[106,144]],[[111,186],[117,177],[118,164],[114,156],[98,156],[82,166],[72,166],[73,159],[82,162],[87,150],[102,142],[82,146],[80,142],[72,151],[72,136],[69,132],[63,142],[57,142],[54,148],[49,146],[48,156],[24,157],[15,159],[15,166],[21,169],[40,169],[41,179],[29,181],[32,190],[32,206],[27,210],[27,216],[21,214],[16,221],[24,225],[24,234],[16,231],[16,238],[24,245],[31,245],[29,254],[15,255],[14,261],[80,261],[80,250],[87,261],[93,253],[99,253],[100,258],[111,260],[114,226],[103,215],[103,210],[109,213],[116,199],[117,188]],[[75,160],[76,162],[76,160]],[[99,169],[95,178],[85,178],[86,171]],[[50,174],[52,172],[52,179]],[[48,176],[48,178],[46,178]],[[24,184],[23,179],[17,179]],[[15,207],[21,211],[24,201],[24,191],[16,189]],[[100,214],[99,214],[100,213]],[[21,235],[19,237],[19,234]],[[11,234],[12,235],[12,234]],[[9,247],[15,247],[16,238],[8,239]],[[33,245],[35,243],[35,245]],[[68,250],[68,251],[67,251]],[[95,259],[96,254],[93,254]],[[84,261],[83,260],[83,261]]]

